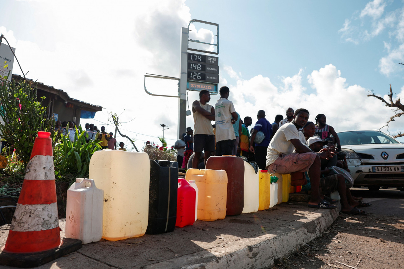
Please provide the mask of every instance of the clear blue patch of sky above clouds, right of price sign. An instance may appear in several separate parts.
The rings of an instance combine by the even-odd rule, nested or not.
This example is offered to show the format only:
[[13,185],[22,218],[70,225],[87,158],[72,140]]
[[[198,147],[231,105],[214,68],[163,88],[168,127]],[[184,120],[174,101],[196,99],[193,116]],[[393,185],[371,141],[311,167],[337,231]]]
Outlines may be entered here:
[[[387,54],[383,42],[392,42],[387,29],[359,44],[347,42],[339,30],[345,19],[371,29],[370,17],[358,18],[366,1],[200,1],[187,0],[193,18],[219,23],[220,56],[248,79],[257,74],[292,76],[303,69],[308,75],[325,65],[335,65],[349,84],[360,84],[384,94],[393,84],[403,86],[402,72],[389,76],[379,71],[379,60]],[[394,1],[388,13],[403,7]],[[221,10],[212,12],[212,10]],[[248,48],[248,49],[246,49]],[[240,55],[241,54],[241,55]],[[235,56],[240,55],[240,56]],[[397,62],[398,63],[398,62]]]

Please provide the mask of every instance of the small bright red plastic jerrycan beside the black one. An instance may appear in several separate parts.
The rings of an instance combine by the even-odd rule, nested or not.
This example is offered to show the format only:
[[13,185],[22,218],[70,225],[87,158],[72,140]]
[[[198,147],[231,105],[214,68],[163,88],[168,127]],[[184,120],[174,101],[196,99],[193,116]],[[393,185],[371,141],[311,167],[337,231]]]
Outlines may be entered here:
[[177,221],[175,226],[184,227],[195,222],[196,191],[183,178],[178,179]]

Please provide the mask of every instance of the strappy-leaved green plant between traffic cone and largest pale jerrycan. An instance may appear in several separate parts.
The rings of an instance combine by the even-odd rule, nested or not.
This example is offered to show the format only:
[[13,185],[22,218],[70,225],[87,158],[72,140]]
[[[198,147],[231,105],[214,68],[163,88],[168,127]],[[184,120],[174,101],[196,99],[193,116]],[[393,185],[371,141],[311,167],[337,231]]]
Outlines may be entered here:
[[70,141],[67,135],[61,135],[53,150],[55,175],[59,178],[67,176],[67,179],[88,177],[90,158],[97,150],[101,150],[99,140],[86,142],[86,131],[81,126],[76,128],[74,141]]

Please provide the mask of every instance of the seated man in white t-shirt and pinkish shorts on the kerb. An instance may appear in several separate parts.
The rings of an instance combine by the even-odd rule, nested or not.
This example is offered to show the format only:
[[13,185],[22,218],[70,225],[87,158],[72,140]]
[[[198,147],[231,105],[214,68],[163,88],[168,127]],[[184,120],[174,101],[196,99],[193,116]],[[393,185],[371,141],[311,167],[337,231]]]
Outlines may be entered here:
[[[299,108],[291,123],[279,127],[267,149],[266,169],[268,173],[280,174],[308,171],[311,182],[309,207],[333,209],[337,206],[323,200],[324,196],[320,194],[320,158],[329,159],[334,153],[325,148],[316,153],[301,143],[298,129],[303,127],[308,119],[309,111]],[[297,153],[292,153],[293,150]]]

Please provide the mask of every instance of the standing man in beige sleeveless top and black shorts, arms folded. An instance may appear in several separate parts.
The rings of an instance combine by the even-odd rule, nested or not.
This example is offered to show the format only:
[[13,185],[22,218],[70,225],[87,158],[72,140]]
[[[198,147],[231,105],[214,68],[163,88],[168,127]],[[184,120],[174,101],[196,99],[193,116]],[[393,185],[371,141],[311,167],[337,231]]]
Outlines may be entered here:
[[[194,153],[195,158],[191,163],[192,168],[198,168],[202,151],[206,160],[215,151],[215,134],[210,121],[215,120],[215,108],[208,104],[210,94],[207,90],[199,92],[199,100],[192,103],[192,115],[194,116]],[[189,167],[189,165],[188,165]]]

